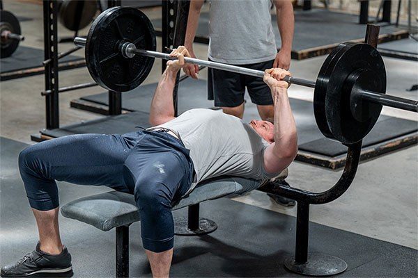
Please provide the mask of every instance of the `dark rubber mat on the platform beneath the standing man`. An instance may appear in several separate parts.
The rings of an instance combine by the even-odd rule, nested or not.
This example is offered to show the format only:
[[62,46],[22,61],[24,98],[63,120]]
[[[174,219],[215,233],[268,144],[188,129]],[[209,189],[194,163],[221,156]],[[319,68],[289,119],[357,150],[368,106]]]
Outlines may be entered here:
[[[141,85],[122,94],[123,108],[128,111],[148,112],[157,84]],[[178,87],[178,111],[183,113],[192,108],[210,108],[212,101],[206,99],[206,81],[185,79]],[[82,97],[97,104],[108,104],[107,93]],[[310,101],[291,99],[293,114],[297,124],[299,149],[324,156],[345,154],[347,147],[325,138],[320,133],[314,118],[314,106]],[[378,124],[366,138],[364,147],[392,140],[418,130],[417,122],[381,115]]]

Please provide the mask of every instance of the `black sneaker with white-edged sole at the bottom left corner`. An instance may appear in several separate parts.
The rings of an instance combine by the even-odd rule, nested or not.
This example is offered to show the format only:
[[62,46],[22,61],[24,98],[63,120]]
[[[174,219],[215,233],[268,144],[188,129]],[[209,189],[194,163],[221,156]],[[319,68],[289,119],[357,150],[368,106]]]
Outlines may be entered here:
[[42,252],[36,245],[36,250],[24,255],[16,263],[1,268],[1,277],[71,277],[71,255],[66,247],[59,255]]

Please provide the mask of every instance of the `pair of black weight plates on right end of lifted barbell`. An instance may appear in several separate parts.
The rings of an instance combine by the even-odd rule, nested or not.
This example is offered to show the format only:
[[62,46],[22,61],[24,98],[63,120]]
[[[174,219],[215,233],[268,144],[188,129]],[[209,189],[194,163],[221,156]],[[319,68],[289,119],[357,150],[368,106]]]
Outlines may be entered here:
[[[357,79],[353,79],[356,76]],[[362,101],[362,111],[350,109],[352,89],[386,91],[385,64],[379,52],[369,44],[345,42],[334,49],[320,69],[316,80],[314,113],[320,131],[343,144],[362,140],[380,115],[381,106]]]

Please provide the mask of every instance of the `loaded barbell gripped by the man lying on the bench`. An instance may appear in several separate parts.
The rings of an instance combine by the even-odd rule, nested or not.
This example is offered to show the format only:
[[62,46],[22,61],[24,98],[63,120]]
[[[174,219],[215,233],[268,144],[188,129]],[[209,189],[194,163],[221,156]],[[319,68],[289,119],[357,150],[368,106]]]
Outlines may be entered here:
[[[87,38],[75,38],[86,47],[86,65],[93,79],[109,90],[137,88],[150,73],[154,58],[175,60],[155,51],[154,28],[134,8],[105,10],[93,22]],[[264,72],[235,65],[185,57],[186,63],[263,78]],[[418,112],[418,101],[385,95],[385,64],[369,44],[343,42],[327,56],[316,81],[286,76],[284,81],[314,91],[314,114],[320,131],[350,145],[371,131],[382,106]]]

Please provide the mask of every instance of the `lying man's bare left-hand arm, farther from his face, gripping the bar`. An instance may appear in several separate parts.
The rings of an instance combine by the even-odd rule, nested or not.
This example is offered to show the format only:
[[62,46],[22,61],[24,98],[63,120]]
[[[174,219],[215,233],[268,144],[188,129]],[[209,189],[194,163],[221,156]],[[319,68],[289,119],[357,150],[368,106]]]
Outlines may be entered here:
[[155,89],[149,118],[149,122],[153,126],[164,124],[175,118],[173,89],[174,85],[176,85],[176,76],[180,68],[185,66],[184,57],[189,57],[190,55],[185,47],[180,46],[177,49],[173,49],[170,56],[177,57],[178,60],[169,60],[167,62],[167,68],[158,82],[157,89]]

